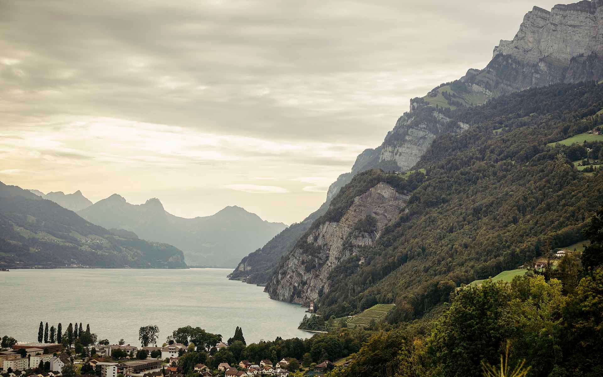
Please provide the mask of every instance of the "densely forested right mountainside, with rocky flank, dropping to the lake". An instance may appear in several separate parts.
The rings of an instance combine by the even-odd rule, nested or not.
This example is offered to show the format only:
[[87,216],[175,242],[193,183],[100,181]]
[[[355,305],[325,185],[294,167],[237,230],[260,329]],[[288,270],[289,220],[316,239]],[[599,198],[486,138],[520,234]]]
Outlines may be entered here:
[[[331,245],[317,242],[315,230],[341,226],[330,212],[345,213],[391,180],[383,174],[360,192],[365,175],[357,175],[283,258],[266,290],[274,299],[316,300],[327,316],[396,303],[393,320],[414,318],[460,284],[541,256],[546,242],[563,247],[581,240],[584,222],[603,201],[603,174],[572,165],[568,156],[579,159],[586,148],[547,144],[598,125],[593,115],[601,109],[603,86],[594,83],[557,84],[447,109],[447,117],[469,128],[435,139],[416,166],[425,174],[417,171],[400,183],[409,198],[399,214],[364,246],[344,243],[333,261]],[[322,290],[315,290],[317,279],[325,283]]]

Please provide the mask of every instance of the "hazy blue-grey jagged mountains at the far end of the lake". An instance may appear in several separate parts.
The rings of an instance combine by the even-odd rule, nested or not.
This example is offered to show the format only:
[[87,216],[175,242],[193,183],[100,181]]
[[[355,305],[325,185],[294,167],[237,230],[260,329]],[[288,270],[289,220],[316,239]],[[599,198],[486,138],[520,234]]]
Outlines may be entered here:
[[167,242],[183,250],[189,265],[233,267],[250,250],[286,228],[256,214],[229,206],[206,217],[182,218],[165,211],[159,199],[130,204],[118,194],[100,200],[78,215],[90,223],[124,229],[150,241]]

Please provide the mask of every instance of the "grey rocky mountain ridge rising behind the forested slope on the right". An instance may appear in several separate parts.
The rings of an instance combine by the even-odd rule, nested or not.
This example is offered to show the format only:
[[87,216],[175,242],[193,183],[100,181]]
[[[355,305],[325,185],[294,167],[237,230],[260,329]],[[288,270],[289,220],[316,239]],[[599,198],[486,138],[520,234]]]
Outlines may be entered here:
[[[514,39],[501,40],[494,48],[493,59],[484,69],[469,69],[459,80],[441,84],[425,97],[413,98],[409,112],[397,119],[384,142],[359,154],[350,173],[341,174],[330,185],[321,206],[323,212],[356,174],[374,168],[407,171],[429,150],[436,138],[467,130],[467,122],[451,116],[456,109],[483,104],[529,87],[601,80],[603,60],[599,55],[603,54],[600,51],[603,44],[597,41],[603,39],[603,28],[598,27],[603,24],[602,5],[603,0],[596,0],[555,5],[551,11],[534,7],[525,15]],[[306,225],[297,227],[299,235],[309,229],[308,220],[312,219],[306,218],[300,223]],[[304,227],[302,231],[300,228]],[[298,233],[295,235],[299,236]],[[264,284],[265,277],[257,279],[253,275],[257,270],[273,270],[280,258],[291,252],[294,237],[292,232],[285,236],[291,239],[266,246],[271,250],[270,265],[266,259],[257,264],[257,256],[250,255],[241,261],[232,276],[245,279],[249,273],[247,282]]]

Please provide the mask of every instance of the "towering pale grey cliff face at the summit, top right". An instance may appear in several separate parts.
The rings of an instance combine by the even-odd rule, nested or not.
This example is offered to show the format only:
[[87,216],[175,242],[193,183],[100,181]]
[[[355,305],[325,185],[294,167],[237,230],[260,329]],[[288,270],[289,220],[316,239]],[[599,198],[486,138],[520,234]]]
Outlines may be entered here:
[[[603,0],[558,4],[551,11],[534,7],[513,40],[494,47],[484,69],[470,69],[453,85],[434,89],[437,95],[414,98],[411,111],[435,104],[453,109],[530,87],[602,78]],[[448,98],[441,98],[443,92]]]

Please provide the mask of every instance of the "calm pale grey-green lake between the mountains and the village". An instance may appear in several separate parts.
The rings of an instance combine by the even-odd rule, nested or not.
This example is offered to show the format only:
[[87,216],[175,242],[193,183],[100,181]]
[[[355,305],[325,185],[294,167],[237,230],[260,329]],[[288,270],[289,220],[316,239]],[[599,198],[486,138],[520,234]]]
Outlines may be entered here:
[[231,270],[56,269],[0,272],[0,337],[36,342],[40,321],[90,323],[98,339],[140,345],[138,329],[159,326],[159,343],[186,325],[222,334],[241,326],[247,344],[308,338],[305,309],[268,298],[263,287],[228,280]]

